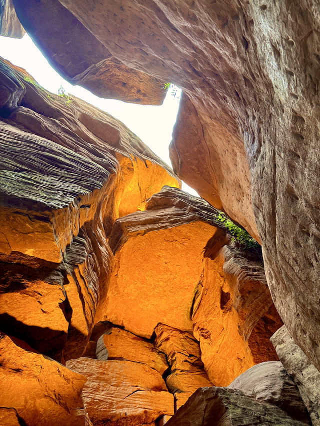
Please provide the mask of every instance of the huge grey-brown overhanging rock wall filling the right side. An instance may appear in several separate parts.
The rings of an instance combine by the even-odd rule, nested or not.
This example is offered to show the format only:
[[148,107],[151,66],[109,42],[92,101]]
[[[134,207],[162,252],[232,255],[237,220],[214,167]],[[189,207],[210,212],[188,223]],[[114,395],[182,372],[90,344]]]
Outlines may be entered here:
[[[92,36],[121,64],[182,87],[174,168],[260,238],[276,308],[320,369],[320,311],[308,291],[318,293],[319,276],[318,1],[57,3],[77,38]],[[35,0],[14,4],[31,33],[48,21],[33,23]],[[56,45],[69,27],[54,34]],[[85,62],[83,45],[73,50]],[[59,55],[47,54],[59,67]]]

